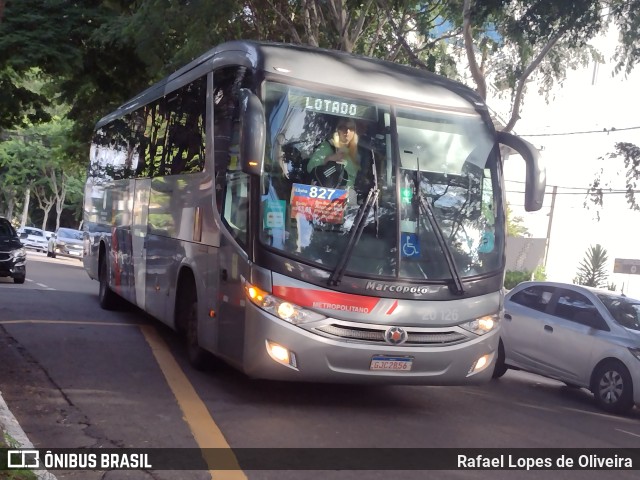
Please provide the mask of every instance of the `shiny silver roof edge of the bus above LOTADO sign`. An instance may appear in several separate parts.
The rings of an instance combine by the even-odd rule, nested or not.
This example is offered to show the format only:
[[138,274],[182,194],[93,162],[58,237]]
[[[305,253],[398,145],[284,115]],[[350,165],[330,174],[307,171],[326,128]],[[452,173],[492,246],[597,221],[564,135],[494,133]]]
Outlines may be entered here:
[[485,103],[473,90],[426,70],[305,45],[234,40],[209,50],[136,95],[102,118],[97,127],[225,65],[244,65],[264,72],[265,76],[351,89],[432,108],[487,112]]

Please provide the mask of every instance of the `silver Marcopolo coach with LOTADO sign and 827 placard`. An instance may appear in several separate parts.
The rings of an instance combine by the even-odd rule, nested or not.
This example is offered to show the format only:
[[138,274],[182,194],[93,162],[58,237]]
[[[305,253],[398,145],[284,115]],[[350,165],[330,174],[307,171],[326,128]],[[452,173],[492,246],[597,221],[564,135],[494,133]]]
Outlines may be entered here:
[[[344,119],[355,168],[310,168]],[[84,267],[101,307],[126,300],[184,334],[195,367],[484,382],[499,354],[505,152],[524,160],[526,209],[540,209],[537,150],[496,131],[462,84],[230,41],[96,124]]]

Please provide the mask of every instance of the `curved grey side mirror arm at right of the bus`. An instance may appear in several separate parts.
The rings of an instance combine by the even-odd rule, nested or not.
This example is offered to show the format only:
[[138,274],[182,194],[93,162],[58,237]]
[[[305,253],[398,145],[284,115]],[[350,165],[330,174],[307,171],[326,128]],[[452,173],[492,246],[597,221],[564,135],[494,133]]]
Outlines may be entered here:
[[524,208],[536,212],[542,208],[547,188],[547,172],[540,160],[540,152],[526,140],[507,132],[498,132],[499,143],[511,147],[522,156],[527,164],[525,179]]

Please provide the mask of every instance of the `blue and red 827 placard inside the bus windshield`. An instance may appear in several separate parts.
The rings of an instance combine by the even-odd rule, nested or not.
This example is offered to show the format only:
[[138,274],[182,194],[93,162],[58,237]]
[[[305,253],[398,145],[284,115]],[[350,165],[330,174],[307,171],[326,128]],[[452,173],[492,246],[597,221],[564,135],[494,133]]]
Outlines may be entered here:
[[342,223],[348,196],[349,190],[294,183],[291,218],[302,216],[318,223]]

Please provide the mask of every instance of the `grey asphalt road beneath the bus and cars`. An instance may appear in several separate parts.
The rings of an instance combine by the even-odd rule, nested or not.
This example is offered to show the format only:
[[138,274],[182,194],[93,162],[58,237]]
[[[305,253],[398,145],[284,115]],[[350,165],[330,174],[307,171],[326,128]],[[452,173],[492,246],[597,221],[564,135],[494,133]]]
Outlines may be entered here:
[[[180,337],[135,308],[108,312],[75,259],[29,253],[0,279],[0,391],[39,448],[637,448],[640,411],[524,372],[477,387],[255,381],[188,366]],[[375,451],[372,450],[375,456]],[[360,479],[335,471],[55,471],[59,480]],[[329,471],[331,470],[331,471]],[[364,478],[425,478],[424,471]],[[636,478],[629,471],[439,471],[437,478]]]

